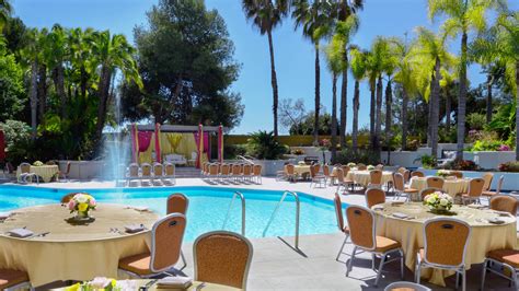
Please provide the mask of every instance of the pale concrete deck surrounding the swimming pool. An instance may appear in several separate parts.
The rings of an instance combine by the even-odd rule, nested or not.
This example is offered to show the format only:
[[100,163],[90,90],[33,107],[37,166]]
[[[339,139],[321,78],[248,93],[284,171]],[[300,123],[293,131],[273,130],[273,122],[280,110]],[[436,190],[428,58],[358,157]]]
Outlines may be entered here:
[[[31,185],[51,188],[111,188],[112,182],[69,182]],[[199,178],[177,179],[176,186],[214,186],[250,189],[292,190],[311,194],[318,197],[333,199],[336,187],[311,188],[309,183],[278,182],[275,178],[263,178],[262,185],[212,185]],[[149,188],[149,187],[146,187]],[[366,205],[364,195],[343,195],[343,202],[351,205]],[[383,272],[379,288],[373,288],[376,272],[371,270],[370,256],[361,254],[356,260],[349,277],[345,276],[344,261],[347,256],[341,257],[342,263],[335,260],[335,256],[343,243],[342,233],[303,235],[300,237],[300,251],[296,252],[289,245],[293,244],[293,237],[266,237],[253,238],[254,256],[249,276],[247,290],[383,290],[394,281],[400,281],[397,261],[388,264],[388,272]],[[284,242],[285,241],[285,242]],[[289,244],[289,245],[288,245]],[[351,244],[345,247],[346,253],[353,249]],[[188,266],[184,270],[187,276],[193,276],[192,244],[184,244]],[[406,269],[405,280],[413,281],[412,270]],[[455,278],[447,279],[449,288],[428,284],[432,290],[452,290]],[[508,283],[489,275],[486,280],[485,290],[514,290]],[[424,283],[424,282],[423,282]],[[481,265],[474,265],[468,271],[468,289],[478,290],[481,283]],[[427,284],[427,283],[426,283]]]

